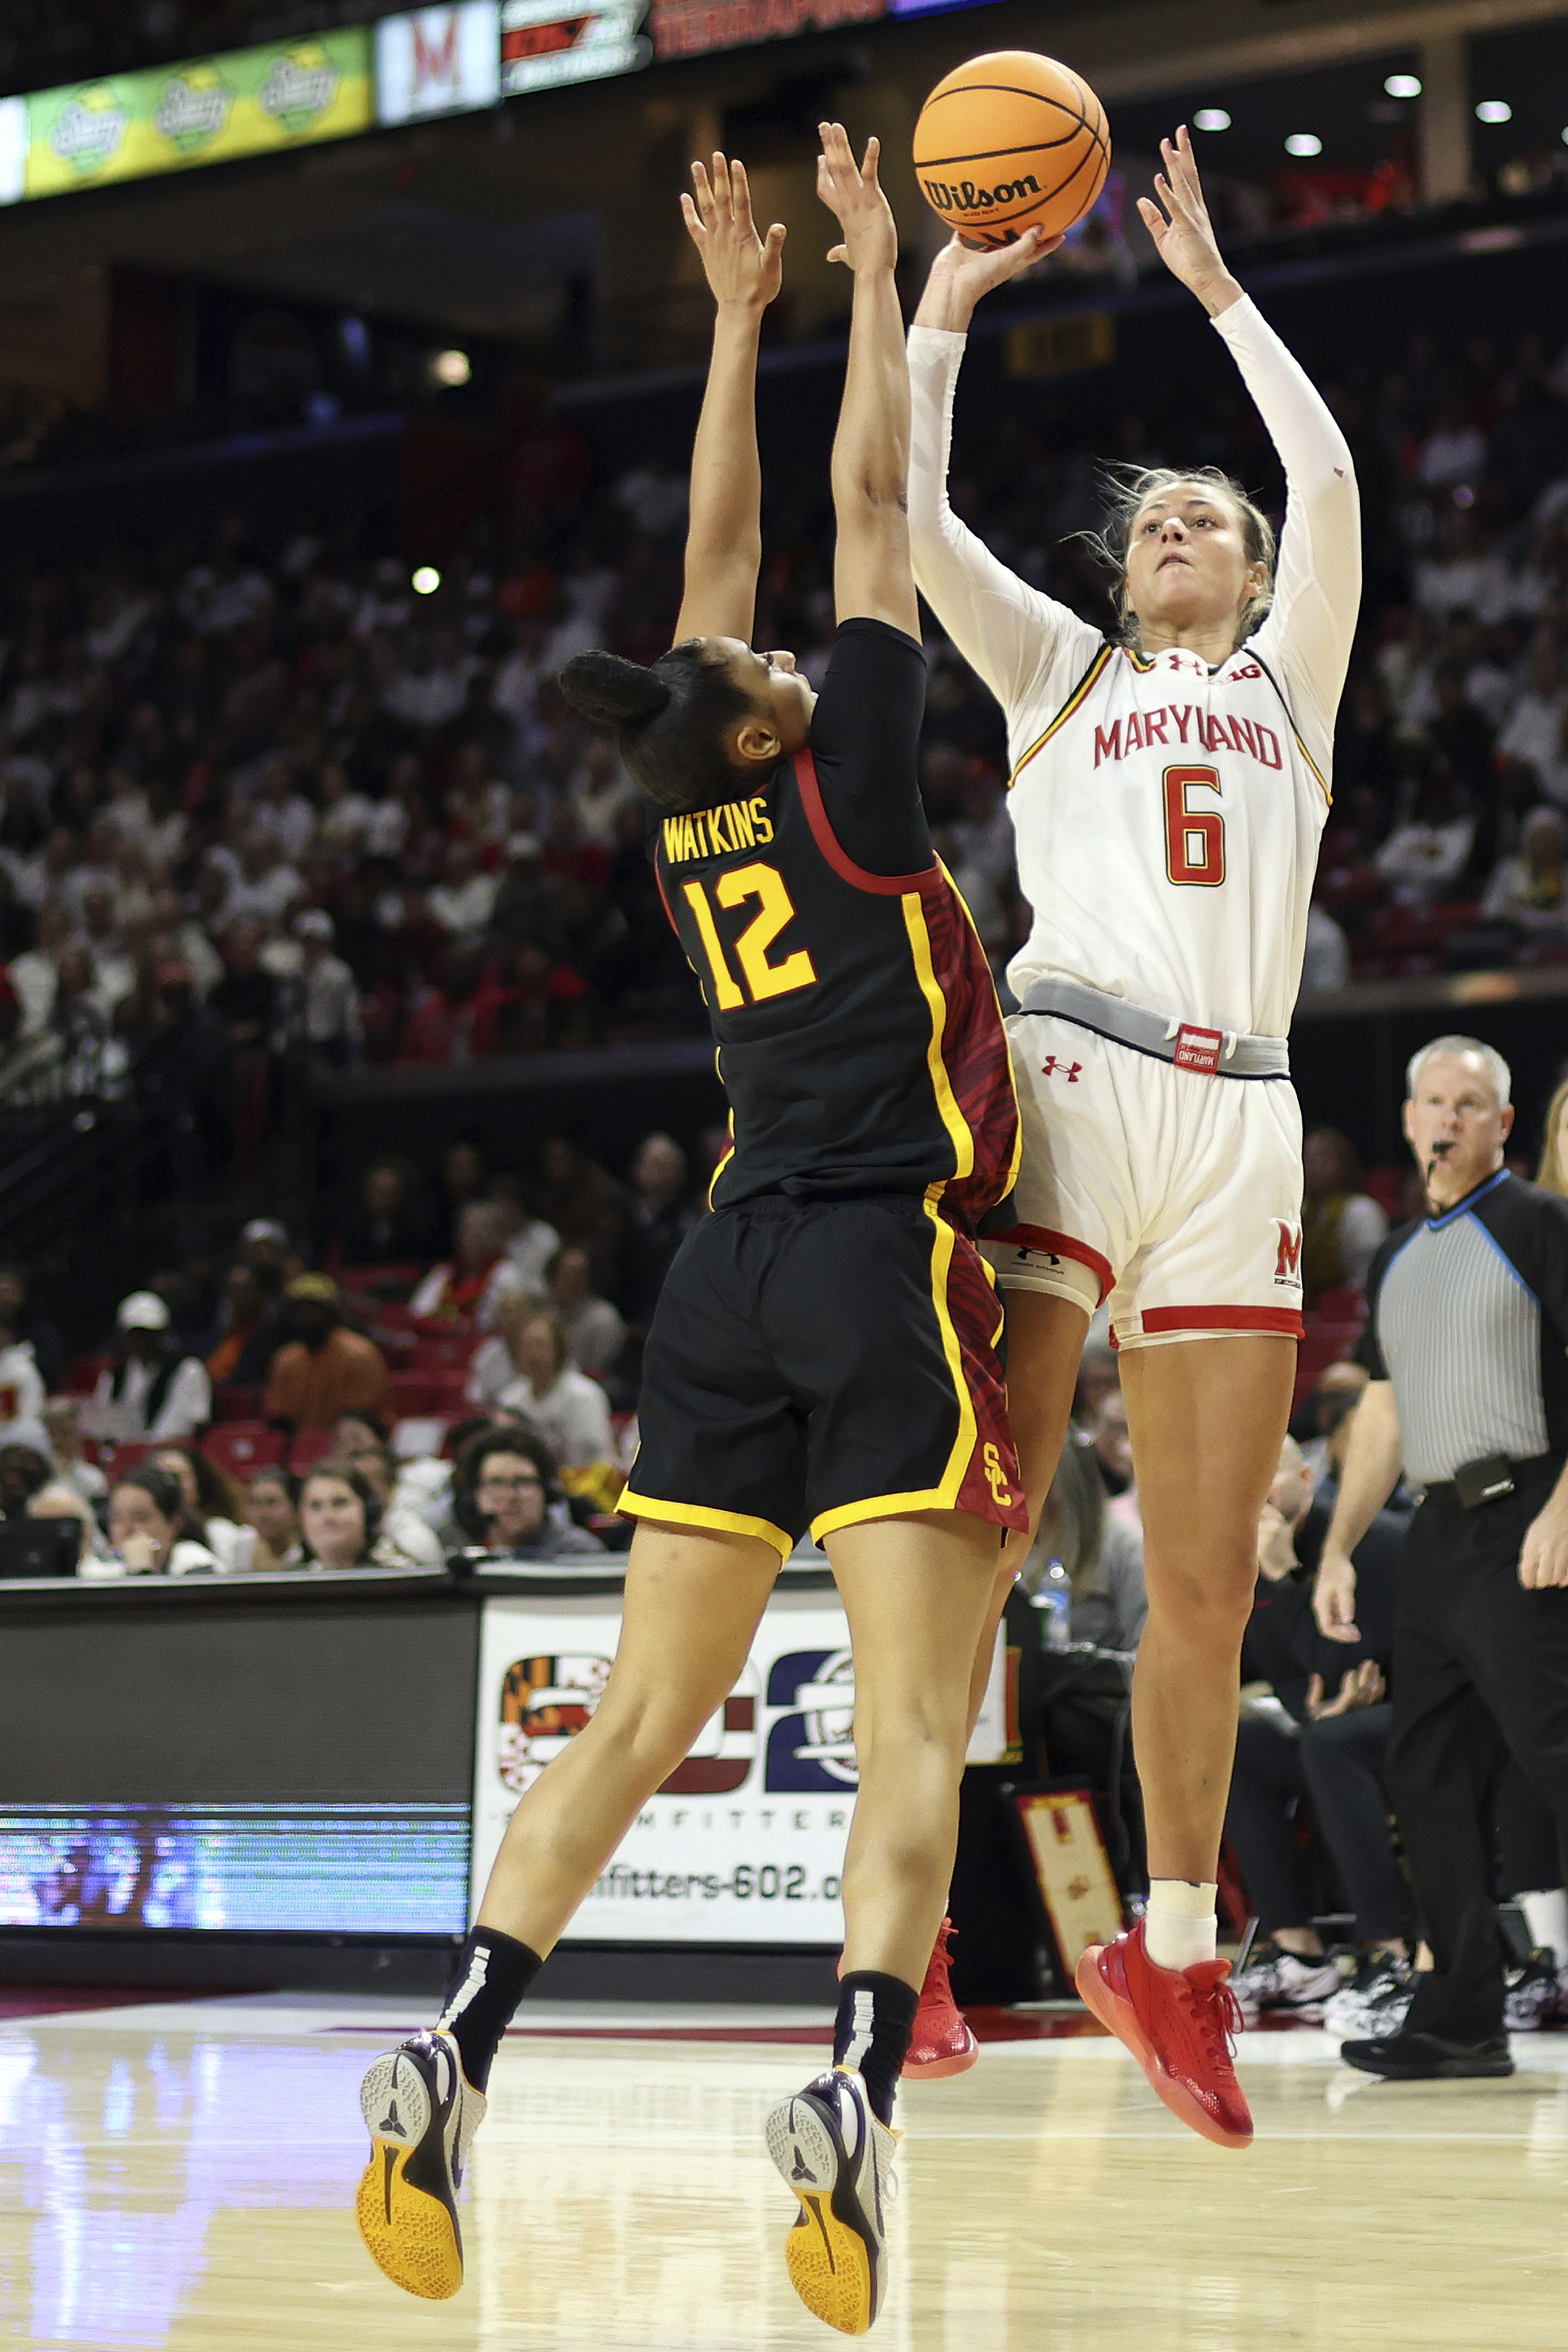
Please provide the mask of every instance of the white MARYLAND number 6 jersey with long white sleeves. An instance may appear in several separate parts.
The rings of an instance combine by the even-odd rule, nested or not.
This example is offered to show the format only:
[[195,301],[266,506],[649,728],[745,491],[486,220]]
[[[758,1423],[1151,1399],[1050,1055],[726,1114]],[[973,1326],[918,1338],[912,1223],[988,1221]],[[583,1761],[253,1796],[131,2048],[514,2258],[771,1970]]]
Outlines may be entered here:
[[1246,299],[1215,327],[1286,468],[1274,604],[1229,661],[1112,647],[964,529],[943,487],[964,339],[929,327],[910,336],[914,576],[1006,713],[1018,882],[1034,908],[1013,993],[1065,974],[1168,1018],[1284,1037],[1361,524],[1345,437],[1279,336]]

